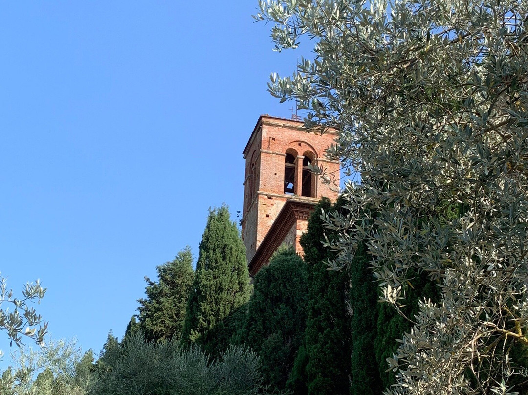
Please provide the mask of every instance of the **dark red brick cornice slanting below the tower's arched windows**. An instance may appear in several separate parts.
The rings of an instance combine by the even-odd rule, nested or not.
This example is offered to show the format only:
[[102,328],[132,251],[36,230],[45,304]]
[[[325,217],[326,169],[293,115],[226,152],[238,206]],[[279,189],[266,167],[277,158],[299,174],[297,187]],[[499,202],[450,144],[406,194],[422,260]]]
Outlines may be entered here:
[[308,221],[314,211],[315,204],[315,202],[299,201],[294,198],[286,201],[251,262],[249,262],[249,275],[251,277],[254,277],[260,268],[269,262],[271,255],[280,247],[296,220]]

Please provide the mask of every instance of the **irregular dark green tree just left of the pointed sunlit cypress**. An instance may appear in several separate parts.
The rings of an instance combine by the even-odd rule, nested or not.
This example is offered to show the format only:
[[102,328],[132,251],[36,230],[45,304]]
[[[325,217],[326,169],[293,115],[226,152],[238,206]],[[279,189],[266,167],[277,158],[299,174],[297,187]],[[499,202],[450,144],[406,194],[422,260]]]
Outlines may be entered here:
[[[193,283],[193,258],[187,246],[174,260],[156,268],[158,281],[145,277],[146,298],[139,299],[139,329],[147,340],[182,336],[188,297]],[[135,319],[134,319],[135,321]],[[134,323],[130,322],[131,325]],[[129,325],[130,325],[129,324]],[[135,327],[130,327],[134,331]],[[127,328],[128,333],[129,328]],[[126,336],[126,335],[125,335]]]

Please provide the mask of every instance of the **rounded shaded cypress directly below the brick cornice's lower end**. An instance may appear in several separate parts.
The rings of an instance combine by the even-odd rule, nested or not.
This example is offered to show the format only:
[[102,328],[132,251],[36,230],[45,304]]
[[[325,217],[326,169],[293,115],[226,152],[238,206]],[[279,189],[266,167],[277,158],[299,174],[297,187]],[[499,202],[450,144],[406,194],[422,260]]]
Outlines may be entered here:
[[260,356],[265,382],[284,389],[306,322],[306,270],[293,249],[282,249],[254,280],[245,340]]

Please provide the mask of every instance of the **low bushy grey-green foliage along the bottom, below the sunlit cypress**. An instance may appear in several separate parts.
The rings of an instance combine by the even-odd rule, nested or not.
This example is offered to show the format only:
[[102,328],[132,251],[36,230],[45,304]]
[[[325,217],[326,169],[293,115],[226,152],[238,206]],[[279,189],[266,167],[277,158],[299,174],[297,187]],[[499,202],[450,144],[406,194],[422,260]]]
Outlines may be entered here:
[[[106,347],[110,348],[107,349]],[[263,393],[258,356],[231,346],[218,360],[197,346],[147,342],[136,333],[122,344],[109,339],[103,350],[99,380],[92,395],[252,395]]]

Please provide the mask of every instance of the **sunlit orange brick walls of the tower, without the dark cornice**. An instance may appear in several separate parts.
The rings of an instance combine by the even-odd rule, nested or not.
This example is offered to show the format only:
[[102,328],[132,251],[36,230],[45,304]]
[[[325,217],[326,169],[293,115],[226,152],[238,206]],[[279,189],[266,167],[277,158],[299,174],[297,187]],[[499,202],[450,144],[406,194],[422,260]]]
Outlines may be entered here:
[[[244,180],[244,213],[242,238],[246,244],[248,262],[251,262],[271,225],[288,199],[315,203],[323,196],[335,201],[339,185],[339,163],[328,161],[325,150],[334,144],[335,133],[323,135],[307,133],[303,123],[295,120],[261,116],[244,149],[246,178]],[[285,193],[285,161],[290,154],[295,159],[294,194]],[[319,177],[303,173],[303,159],[315,160],[332,174],[333,184],[320,182]],[[291,158],[291,157],[290,157]],[[306,160],[305,160],[306,164]],[[290,168],[293,165],[290,165]],[[310,178],[311,177],[311,178]],[[306,181],[306,180],[311,180]],[[305,185],[305,188],[303,188]],[[309,194],[310,196],[302,196]],[[306,230],[306,220],[295,221],[295,231],[289,230],[282,240],[302,253],[299,237]],[[280,230],[280,229],[279,229]],[[284,230],[280,230],[281,234]],[[280,244],[279,244],[280,245]]]

